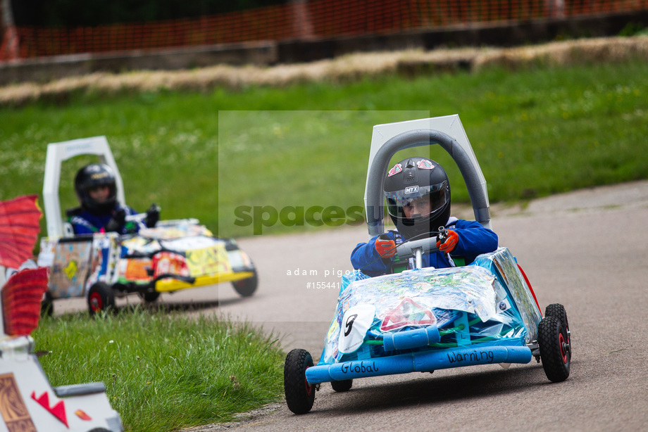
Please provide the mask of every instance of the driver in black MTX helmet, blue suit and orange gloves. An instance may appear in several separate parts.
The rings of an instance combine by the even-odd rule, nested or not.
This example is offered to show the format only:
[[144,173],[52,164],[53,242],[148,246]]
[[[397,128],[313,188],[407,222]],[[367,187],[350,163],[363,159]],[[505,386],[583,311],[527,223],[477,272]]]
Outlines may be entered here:
[[[392,272],[396,246],[407,240],[434,236],[447,229],[439,251],[423,255],[423,267],[455,267],[456,258],[465,264],[477,255],[497,249],[497,234],[479,222],[450,216],[450,184],[441,165],[428,158],[401,160],[387,173],[383,192],[396,230],[359,243],[351,252],[351,265],[370,277]],[[454,258],[453,258],[454,257]],[[413,268],[413,258],[407,263]]]

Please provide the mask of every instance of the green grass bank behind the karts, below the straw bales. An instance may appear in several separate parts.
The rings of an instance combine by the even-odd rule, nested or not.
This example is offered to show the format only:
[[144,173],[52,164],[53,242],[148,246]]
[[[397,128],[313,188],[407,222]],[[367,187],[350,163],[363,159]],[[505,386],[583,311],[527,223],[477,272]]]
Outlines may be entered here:
[[[249,236],[252,227],[233,223],[239,205],[363,205],[373,125],[454,113],[492,202],[644,179],[645,70],[642,60],[496,68],[207,94],[76,94],[61,105],[0,108],[0,199],[42,190],[47,143],[106,135],[130,205],[155,201],[163,217]],[[453,199],[467,201],[447,155],[432,158],[449,167]],[[70,183],[81,163],[64,167],[63,207],[75,205]],[[277,223],[263,233],[304,229],[312,227]]]

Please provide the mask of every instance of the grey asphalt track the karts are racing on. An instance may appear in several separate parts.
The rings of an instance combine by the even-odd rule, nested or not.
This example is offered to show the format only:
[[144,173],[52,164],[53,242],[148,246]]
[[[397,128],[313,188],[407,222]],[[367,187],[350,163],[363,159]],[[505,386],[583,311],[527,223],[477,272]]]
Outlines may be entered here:
[[[455,215],[471,218],[466,209]],[[532,360],[506,370],[487,365],[360,379],[347,393],[325,383],[309,414],[296,416],[278,403],[237,423],[192,431],[648,431],[648,182],[494,205],[492,223],[541,307],[566,307],[573,343],[567,381],[550,383]],[[338,273],[350,269],[351,249],[367,238],[364,227],[345,227],[242,239],[261,278],[253,297],[239,298],[221,284],[164,294],[161,301],[254,322],[280,338],[286,352],[305,348],[317,360]],[[125,301],[138,300],[118,304]],[[85,303],[57,300],[55,307],[59,313]]]

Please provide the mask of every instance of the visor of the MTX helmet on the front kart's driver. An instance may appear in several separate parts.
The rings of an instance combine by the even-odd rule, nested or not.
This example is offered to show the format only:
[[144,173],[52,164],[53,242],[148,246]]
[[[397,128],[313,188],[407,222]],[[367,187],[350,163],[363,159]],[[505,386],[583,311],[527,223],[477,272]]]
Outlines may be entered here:
[[394,192],[385,192],[387,211],[394,217],[425,217],[444,208],[450,200],[448,182],[432,186],[408,186]]

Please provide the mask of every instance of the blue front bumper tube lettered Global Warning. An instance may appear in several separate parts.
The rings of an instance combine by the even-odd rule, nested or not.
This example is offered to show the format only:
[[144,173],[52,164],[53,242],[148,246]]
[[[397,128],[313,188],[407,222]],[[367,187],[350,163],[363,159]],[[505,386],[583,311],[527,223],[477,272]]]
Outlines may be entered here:
[[528,346],[479,344],[472,345],[471,348],[413,352],[391,357],[312,366],[306,369],[306,381],[316,384],[368,376],[429,372],[475,364],[528,363],[531,358],[531,349]]

